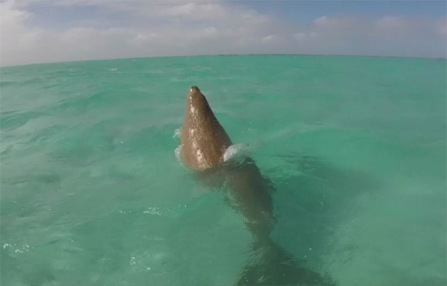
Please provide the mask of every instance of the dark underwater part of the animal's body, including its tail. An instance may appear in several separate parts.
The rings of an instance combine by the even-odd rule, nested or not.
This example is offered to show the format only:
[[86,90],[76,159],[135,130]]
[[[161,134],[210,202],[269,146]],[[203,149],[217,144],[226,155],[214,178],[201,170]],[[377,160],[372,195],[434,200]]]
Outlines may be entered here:
[[276,188],[261,174],[253,159],[234,158],[194,175],[210,188],[226,192],[228,204],[244,216],[253,235],[251,257],[235,285],[336,285],[329,277],[300,266],[293,255],[270,237],[276,221],[272,211],[272,193]]

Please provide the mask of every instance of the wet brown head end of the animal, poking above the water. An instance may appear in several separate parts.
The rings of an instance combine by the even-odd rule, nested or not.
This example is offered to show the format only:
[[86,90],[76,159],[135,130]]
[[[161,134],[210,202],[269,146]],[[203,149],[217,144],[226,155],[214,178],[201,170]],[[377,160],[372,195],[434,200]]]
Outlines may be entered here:
[[231,140],[197,86],[186,98],[184,125],[180,135],[182,161],[193,170],[206,170],[223,163]]

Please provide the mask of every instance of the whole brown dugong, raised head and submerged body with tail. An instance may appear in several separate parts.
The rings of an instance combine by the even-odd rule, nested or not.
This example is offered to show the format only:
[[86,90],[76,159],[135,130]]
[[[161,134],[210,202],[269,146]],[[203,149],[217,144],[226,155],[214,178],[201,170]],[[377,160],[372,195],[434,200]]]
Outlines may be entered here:
[[182,163],[213,187],[225,184],[230,203],[242,213],[254,237],[254,251],[263,253],[262,262],[244,266],[237,285],[332,285],[318,273],[298,266],[291,255],[270,239],[274,187],[252,158],[225,160],[224,154],[232,144],[203,93],[192,86],[180,134]]

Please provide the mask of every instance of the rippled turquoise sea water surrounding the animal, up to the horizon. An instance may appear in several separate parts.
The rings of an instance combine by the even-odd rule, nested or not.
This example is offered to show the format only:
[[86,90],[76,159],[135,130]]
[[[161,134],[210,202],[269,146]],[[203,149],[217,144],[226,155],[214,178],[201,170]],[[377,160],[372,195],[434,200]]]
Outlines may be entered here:
[[197,85],[338,285],[446,285],[446,61],[172,57],[1,68],[1,285],[232,285],[243,218],[175,156]]

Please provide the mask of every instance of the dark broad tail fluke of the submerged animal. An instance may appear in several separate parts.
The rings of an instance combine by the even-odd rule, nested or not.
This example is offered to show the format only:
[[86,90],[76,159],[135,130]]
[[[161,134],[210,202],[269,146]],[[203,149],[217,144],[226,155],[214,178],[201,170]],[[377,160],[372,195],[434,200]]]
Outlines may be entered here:
[[253,245],[254,260],[245,265],[236,285],[306,285],[335,286],[330,278],[299,266],[271,239]]

